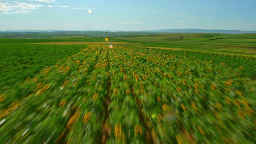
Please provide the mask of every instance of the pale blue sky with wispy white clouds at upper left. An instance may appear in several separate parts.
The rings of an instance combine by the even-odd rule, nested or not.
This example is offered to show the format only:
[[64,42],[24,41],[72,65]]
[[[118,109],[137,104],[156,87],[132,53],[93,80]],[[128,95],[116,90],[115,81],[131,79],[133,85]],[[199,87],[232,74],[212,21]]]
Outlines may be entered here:
[[256,30],[255,7],[256,0],[0,0],[0,30]]

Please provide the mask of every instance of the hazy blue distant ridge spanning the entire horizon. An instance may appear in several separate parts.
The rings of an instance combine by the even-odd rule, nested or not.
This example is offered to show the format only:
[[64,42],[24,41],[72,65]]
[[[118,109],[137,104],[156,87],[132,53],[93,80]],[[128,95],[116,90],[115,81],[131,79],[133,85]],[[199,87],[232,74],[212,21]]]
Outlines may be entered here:
[[[6,30],[0,31],[0,33],[25,33],[25,32],[68,32],[70,30]],[[103,31],[103,32],[123,32],[116,30],[74,30],[74,31]],[[124,32],[149,32],[149,33],[220,33],[220,34],[245,34],[256,33],[256,31],[240,31],[240,30],[204,30],[204,29],[166,29],[166,30],[144,30],[144,31],[124,31]]]

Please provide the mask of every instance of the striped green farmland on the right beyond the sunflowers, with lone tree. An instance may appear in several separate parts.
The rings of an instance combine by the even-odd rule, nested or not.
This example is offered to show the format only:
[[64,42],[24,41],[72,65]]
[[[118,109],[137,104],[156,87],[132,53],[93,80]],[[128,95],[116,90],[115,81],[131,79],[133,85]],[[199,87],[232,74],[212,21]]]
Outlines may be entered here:
[[[180,36],[183,36],[184,40],[180,40]],[[179,48],[252,56],[256,54],[256,34],[164,34],[152,37],[121,37],[113,39],[121,42],[138,43],[141,46],[148,47]]]

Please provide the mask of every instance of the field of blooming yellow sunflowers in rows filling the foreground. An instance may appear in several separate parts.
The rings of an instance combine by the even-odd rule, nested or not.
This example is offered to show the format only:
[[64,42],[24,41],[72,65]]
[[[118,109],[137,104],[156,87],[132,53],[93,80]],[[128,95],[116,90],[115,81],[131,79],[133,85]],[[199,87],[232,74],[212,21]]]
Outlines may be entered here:
[[0,94],[1,144],[254,144],[256,80],[173,50],[92,45]]

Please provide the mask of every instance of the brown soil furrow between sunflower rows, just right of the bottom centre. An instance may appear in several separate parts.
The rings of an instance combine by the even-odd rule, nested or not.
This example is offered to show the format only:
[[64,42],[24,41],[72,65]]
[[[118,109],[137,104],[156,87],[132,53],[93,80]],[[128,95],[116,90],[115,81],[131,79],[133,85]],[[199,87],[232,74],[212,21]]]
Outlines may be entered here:
[[143,125],[143,127],[146,130],[146,135],[144,135],[145,142],[146,142],[146,144],[155,144],[153,142],[153,138],[152,138],[152,134],[151,134],[151,131],[149,129],[149,126],[147,125],[146,119],[144,117],[143,107],[140,104],[140,99],[138,98],[138,96],[134,95],[132,85],[130,85],[130,91],[132,93],[132,96],[134,98],[136,98],[136,104],[138,106],[138,113],[139,113],[139,120],[140,120],[141,124]]

